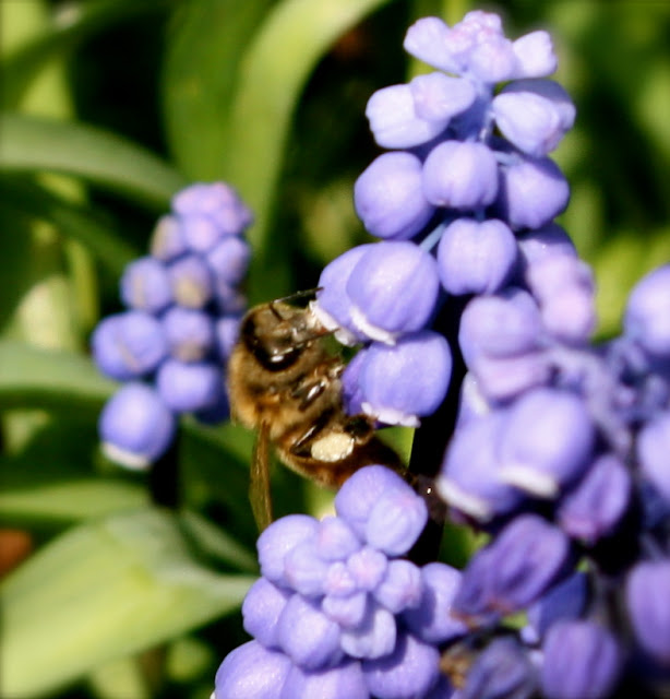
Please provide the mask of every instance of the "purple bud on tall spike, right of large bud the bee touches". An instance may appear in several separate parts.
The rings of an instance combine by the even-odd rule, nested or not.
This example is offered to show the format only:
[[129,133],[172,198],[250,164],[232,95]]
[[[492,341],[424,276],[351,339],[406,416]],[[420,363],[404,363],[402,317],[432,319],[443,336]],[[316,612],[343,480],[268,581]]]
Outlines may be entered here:
[[511,276],[516,257],[516,240],[502,221],[457,218],[440,239],[438,271],[450,294],[492,294]]

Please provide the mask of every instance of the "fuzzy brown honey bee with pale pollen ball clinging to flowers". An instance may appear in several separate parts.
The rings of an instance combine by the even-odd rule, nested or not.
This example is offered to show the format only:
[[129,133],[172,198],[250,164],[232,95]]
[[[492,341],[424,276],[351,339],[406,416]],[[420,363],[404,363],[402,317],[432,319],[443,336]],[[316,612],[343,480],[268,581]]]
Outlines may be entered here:
[[[301,294],[302,295],[302,294]],[[250,500],[262,531],[272,522],[268,447],[316,483],[338,487],[372,463],[400,466],[367,415],[348,415],[342,396],[346,364],[333,354],[330,332],[309,308],[278,299],[252,308],[228,364],[234,419],[256,428]]]

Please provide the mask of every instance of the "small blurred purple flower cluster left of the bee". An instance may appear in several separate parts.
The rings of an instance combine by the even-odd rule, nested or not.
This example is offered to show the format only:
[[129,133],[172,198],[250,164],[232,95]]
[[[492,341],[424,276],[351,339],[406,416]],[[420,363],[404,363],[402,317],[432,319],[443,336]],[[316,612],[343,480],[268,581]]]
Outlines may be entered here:
[[130,469],[165,452],[177,415],[228,417],[225,365],[247,307],[238,287],[252,215],[235,190],[192,185],[171,209],[156,225],[151,254],[121,277],[127,310],[105,318],[92,336],[100,371],[124,382],[100,415],[103,449]]

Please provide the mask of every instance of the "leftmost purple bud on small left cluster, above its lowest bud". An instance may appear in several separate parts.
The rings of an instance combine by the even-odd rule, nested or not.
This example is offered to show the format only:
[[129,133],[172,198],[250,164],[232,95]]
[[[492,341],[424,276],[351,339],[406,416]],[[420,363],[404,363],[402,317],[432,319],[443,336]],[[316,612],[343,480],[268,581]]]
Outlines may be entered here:
[[100,371],[119,381],[153,371],[168,350],[160,323],[153,316],[134,310],[100,321],[91,345]]

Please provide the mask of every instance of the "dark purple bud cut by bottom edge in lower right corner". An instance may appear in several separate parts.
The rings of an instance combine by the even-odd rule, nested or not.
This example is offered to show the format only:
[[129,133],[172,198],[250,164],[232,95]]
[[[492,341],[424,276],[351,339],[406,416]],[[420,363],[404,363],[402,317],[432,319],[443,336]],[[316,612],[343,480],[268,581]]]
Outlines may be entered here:
[[615,638],[595,621],[559,621],[549,629],[541,671],[549,699],[606,699],[621,672]]

